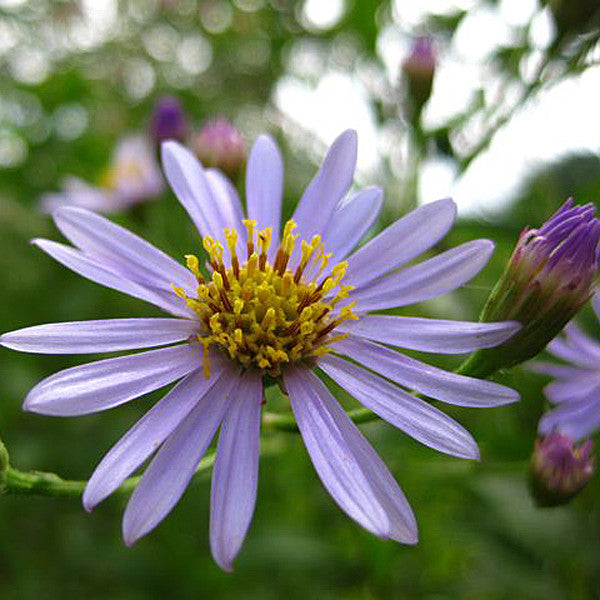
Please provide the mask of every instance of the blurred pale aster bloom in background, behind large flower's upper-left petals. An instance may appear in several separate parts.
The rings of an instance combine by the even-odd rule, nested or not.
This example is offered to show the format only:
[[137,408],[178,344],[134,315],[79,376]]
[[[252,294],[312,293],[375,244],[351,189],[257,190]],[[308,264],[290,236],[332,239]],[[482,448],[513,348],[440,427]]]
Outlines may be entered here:
[[59,206],[117,213],[155,198],[163,189],[163,178],[150,143],[142,136],[128,136],[117,144],[101,185],[68,177],[63,191],[44,194],[40,205],[48,213]]

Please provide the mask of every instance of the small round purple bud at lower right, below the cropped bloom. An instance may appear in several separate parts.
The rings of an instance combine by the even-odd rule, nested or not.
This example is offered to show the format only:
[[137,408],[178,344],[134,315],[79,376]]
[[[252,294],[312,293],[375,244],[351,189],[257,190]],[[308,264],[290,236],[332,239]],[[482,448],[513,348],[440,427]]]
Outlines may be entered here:
[[530,482],[538,506],[566,504],[587,485],[595,469],[593,447],[592,440],[574,446],[557,432],[536,440]]

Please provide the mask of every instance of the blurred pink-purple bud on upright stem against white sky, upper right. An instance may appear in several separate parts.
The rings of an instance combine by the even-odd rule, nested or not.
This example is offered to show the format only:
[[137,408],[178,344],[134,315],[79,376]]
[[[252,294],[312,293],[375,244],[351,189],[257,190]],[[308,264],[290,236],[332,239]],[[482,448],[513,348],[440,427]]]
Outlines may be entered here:
[[411,117],[416,118],[420,115],[423,105],[431,96],[435,62],[433,42],[429,38],[419,38],[402,63]]

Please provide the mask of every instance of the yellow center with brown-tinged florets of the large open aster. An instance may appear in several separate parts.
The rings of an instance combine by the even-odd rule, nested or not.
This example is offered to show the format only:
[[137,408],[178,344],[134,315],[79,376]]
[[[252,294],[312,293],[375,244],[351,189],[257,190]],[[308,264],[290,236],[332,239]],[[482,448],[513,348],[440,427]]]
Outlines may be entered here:
[[204,347],[207,378],[211,344],[223,348],[242,366],[257,367],[277,377],[285,363],[327,353],[329,344],[347,335],[332,335],[335,327],[358,319],[353,304],[332,315],[352,286],[341,284],[346,262],[324,275],[331,255],[325,254],[319,235],[310,243],[302,242],[300,262],[289,270],[298,237],[292,233],[296,224],[286,223],[273,264],[268,259],[271,228],[255,231],[256,221],[244,221],[244,225],[248,230],[245,262],[240,263],[236,253],[236,231],[225,230],[229,267],[223,262],[223,246],[206,236],[203,246],[212,268],[211,279],[200,272],[198,258],[187,255],[187,266],[198,281],[197,295],[191,298],[181,288],[174,288],[204,325],[198,341]]

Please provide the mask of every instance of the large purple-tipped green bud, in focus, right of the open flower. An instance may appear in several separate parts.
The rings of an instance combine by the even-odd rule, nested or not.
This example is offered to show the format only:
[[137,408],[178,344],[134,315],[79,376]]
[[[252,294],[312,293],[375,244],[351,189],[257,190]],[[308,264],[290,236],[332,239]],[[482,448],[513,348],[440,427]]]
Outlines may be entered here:
[[480,321],[518,321],[521,330],[472,354],[461,372],[487,377],[541,352],[593,295],[600,258],[593,204],[571,199],[540,229],[526,228],[492,290]]

